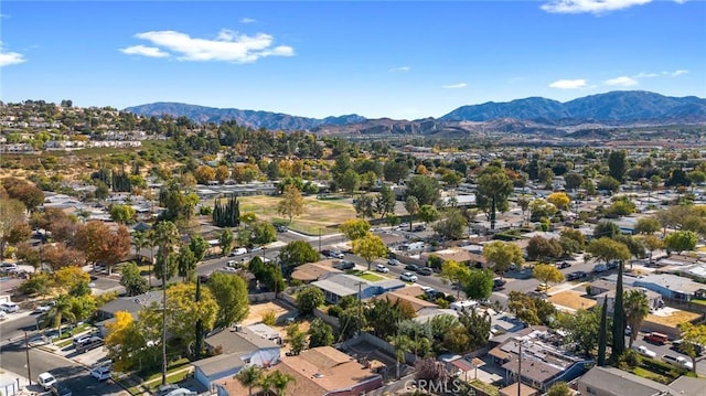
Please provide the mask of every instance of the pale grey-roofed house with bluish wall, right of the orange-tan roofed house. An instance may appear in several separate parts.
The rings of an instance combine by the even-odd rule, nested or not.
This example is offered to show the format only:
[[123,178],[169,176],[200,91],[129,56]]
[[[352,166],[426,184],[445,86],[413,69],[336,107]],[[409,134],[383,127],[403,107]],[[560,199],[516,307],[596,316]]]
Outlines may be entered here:
[[317,280],[311,285],[323,291],[327,302],[338,303],[346,296],[359,296],[361,299],[368,299],[382,295],[386,291],[397,290],[405,287],[399,279],[387,279],[371,281],[347,274],[335,274],[323,280]]

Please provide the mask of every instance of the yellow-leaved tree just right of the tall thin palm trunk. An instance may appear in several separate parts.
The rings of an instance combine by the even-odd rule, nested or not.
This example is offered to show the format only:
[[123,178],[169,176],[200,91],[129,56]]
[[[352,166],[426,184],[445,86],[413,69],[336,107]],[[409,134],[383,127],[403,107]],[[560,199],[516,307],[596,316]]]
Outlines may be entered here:
[[167,328],[188,349],[196,341],[194,324],[201,321],[204,331],[208,332],[218,314],[218,304],[211,290],[202,290],[199,301],[195,297],[193,283],[176,283],[167,289]]

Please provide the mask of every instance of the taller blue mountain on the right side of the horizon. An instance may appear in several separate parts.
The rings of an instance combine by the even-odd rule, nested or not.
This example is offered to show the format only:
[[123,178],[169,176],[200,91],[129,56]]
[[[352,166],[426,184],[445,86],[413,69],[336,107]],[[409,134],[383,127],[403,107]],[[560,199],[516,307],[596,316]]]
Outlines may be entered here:
[[552,124],[706,121],[706,99],[670,97],[644,90],[618,90],[559,103],[541,97],[462,106],[447,121],[489,121],[501,117]]

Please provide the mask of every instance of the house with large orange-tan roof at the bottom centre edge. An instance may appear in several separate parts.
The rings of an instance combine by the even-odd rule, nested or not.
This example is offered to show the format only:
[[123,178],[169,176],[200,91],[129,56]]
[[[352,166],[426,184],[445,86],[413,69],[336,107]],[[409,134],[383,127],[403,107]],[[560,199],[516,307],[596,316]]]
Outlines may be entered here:
[[[297,356],[284,356],[277,365],[267,370],[266,375],[274,371],[295,378],[287,387],[286,396],[359,396],[383,384],[382,376],[371,367],[331,346],[306,350]],[[246,394],[247,388],[237,381],[223,381],[217,385],[218,396]]]

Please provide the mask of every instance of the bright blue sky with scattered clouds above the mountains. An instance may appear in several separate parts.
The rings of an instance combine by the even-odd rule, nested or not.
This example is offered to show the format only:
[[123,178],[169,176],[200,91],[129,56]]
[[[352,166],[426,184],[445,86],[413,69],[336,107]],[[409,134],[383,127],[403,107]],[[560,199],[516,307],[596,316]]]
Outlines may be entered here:
[[4,101],[323,118],[643,89],[706,97],[706,2],[0,3]]

